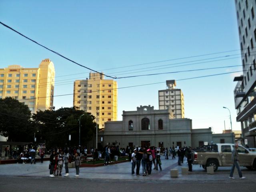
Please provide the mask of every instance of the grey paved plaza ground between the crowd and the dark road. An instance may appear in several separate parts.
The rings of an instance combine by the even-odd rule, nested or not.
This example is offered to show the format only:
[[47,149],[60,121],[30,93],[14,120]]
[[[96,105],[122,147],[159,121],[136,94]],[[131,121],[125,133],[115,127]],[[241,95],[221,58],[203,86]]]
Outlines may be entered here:
[[[199,165],[193,165],[192,174],[182,175],[181,168],[188,167],[186,161],[182,164],[182,166],[178,166],[178,158],[172,160],[165,160],[164,156],[161,156],[162,161],[162,171],[158,169],[158,171],[153,170],[154,165],[152,165],[152,174],[150,176],[136,176],[131,174],[131,163],[123,162],[117,165],[112,164],[110,166],[100,166],[100,167],[80,167],[79,177],[75,177],[76,170],[75,168],[69,168],[68,177],[63,177],[65,174],[65,169],[62,170],[62,176],[56,176],[54,178],[50,178],[52,180],[62,178],[75,178],[75,179],[108,179],[108,180],[157,180],[158,182],[172,180],[175,182],[213,182],[214,180],[218,182],[250,182],[256,183],[256,171],[247,170],[245,167],[241,167],[243,176],[246,177],[245,180],[240,180],[237,172],[234,174],[235,180],[230,180],[229,173],[230,167],[219,167],[218,171],[214,174],[207,174],[206,171],[200,167]],[[46,161],[44,163],[37,162],[36,164],[2,164],[0,165],[0,176],[23,176],[23,177],[49,177],[50,170],[48,169],[49,162]],[[178,169],[179,177],[171,178],[170,170]],[[135,168],[136,171],[136,168]],[[142,166],[140,166],[140,174],[142,173]]]

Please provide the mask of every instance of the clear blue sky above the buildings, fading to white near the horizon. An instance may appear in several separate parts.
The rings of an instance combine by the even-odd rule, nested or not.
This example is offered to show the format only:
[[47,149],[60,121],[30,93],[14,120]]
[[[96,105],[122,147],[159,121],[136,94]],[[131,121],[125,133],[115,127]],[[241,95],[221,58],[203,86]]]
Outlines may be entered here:
[[[118,120],[123,110],[140,105],[158,109],[158,90],[174,79],[184,94],[185,117],[192,119],[192,128],[212,127],[214,133],[221,133],[225,121],[230,129],[225,106],[230,109],[233,130],[241,129],[233,93],[233,79],[242,74],[236,72],[242,70],[242,62],[233,0],[1,0],[0,21],[111,76],[178,72],[117,79],[122,88]],[[36,68],[44,58],[50,58],[55,67],[54,106],[71,107],[72,95],[58,95],[72,94],[74,80],[86,79],[90,70],[0,25],[0,68],[13,64]],[[233,67],[179,72],[224,66]],[[222,74],[228,72],[236,73]],[[208,76],[213,74],[222,75]],[[194,78],[199,76],[208,77]],[[136,86],[143,84],[151,85]],[[123,88],[128,86],[136,87]]]

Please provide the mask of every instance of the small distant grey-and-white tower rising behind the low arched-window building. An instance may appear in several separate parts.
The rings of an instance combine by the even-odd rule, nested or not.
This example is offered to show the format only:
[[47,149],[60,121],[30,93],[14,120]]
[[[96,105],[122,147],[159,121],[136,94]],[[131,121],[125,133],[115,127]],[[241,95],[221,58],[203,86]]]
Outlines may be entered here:
[[176,89],[175,80],[166,80],[167,88],[158,91],[159,109],[170,109],[174,118],[185,118],[184,96],[181,89]]

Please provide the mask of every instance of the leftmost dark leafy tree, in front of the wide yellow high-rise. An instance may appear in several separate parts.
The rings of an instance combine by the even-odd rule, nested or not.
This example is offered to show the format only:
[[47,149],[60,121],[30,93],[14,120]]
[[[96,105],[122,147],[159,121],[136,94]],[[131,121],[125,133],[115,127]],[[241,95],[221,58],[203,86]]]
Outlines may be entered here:
[[0,135],[8,137],[9,141],[33,141],[34,127],[30,116],[27,105],[12,97],[0,98]]

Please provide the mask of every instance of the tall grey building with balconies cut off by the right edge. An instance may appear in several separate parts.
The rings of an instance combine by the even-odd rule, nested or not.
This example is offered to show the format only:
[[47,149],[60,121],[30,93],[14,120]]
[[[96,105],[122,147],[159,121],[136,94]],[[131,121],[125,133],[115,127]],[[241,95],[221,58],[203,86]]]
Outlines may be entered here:
[[235,0],[243,74],[234,78],[236,121],[241,122],[242,138],[256,147],[256,2]]

